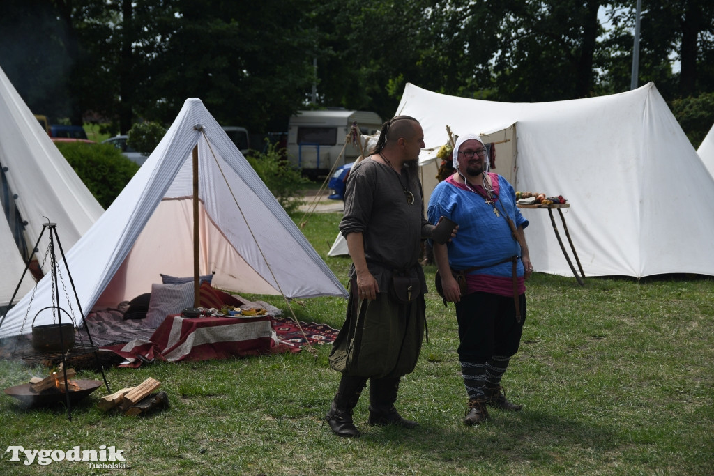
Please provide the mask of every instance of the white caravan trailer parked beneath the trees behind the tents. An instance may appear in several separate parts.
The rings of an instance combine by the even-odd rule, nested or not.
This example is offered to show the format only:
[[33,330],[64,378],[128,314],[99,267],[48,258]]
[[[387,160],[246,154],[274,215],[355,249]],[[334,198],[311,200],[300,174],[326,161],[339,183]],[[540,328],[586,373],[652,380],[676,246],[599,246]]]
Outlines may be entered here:
[[[360,156],[356,146],[345,138],[356,122],[361,134],[372,135],[382,128],[382,119],[371,111],[298,111],[288,123],[288,157],[311,178],[326,176],[335,168]],[[345,151],[342,156],[342,148]],[[339,157],[339,160],[338,160]],[[337,161],[337,163],[335,163]]]

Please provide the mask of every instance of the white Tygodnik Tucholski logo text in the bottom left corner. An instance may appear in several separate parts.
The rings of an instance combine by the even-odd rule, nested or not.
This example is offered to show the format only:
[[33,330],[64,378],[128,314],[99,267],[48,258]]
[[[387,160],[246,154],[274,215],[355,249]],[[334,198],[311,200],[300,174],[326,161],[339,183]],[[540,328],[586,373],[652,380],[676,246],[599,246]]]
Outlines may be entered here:
[[10,453],[9,461],[22,461],[22,464],[29,466],[34,463],[46,466],[55,461],[76,461],[89,463],[90,468],[101,469],[126,469],[124,450],[117,450],[116,447],[101,445],[99,450],[82,450],[79,446],[72,447],[71,450],[25,450],[21,446],[9,446],[5,452]]

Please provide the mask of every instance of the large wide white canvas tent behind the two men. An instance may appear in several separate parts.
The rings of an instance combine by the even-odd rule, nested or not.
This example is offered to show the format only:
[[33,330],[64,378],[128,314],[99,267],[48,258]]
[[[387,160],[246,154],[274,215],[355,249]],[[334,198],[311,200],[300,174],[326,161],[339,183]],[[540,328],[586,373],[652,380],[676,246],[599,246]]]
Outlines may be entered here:
[[[653,83],[550,103],[458,98],[408,84],[396,114],[421,122],[427,149],[446,143],[446,126],[457,136],[510,139],[513,153],[497,145],[493,171],[516,190],[568,198],[585,275],[714,274],[714,178]],[[522,213],[535,269],[572,275],[548,213]]]

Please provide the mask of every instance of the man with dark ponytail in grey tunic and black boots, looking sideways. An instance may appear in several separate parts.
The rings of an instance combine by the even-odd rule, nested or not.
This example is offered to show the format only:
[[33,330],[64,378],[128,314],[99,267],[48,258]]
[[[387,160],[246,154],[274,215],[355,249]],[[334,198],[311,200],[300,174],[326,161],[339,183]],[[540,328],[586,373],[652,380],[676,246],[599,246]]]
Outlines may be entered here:
[[[340,231],[353,264],[346,320],[330,354],[342,377],[326,415],[339,436],[360,435],[352,411],[367,380],[370,425],[417,425],[402,418],[394,402],[401,377],[416,366],[426,324],[419,257],[433,226],[423,216],[417,175],[423,147],[418,121],[396,116],[383,124],[371,156],[347,178]],[[395,274],[417,278],[421,289],[408,303],[390,293]]]

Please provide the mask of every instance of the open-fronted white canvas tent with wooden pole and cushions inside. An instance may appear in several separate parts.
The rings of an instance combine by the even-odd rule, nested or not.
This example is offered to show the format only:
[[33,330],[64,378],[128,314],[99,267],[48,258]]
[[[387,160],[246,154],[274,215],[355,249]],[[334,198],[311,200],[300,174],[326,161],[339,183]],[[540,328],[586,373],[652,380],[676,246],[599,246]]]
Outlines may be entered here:
[[[203,103],[190,98],[124,191],[66,252],[84,312],[150,292],[152,283],[161,283],[160,273],[193,275],[194,146],[201,275],[215,273],[215,287],[242,293],[347,296]],[[62,263],[60,272],[66,267]],[[20,333],[30,297],[7,315],[0,337]],[[50,302],[45,278],[33,308]]]

